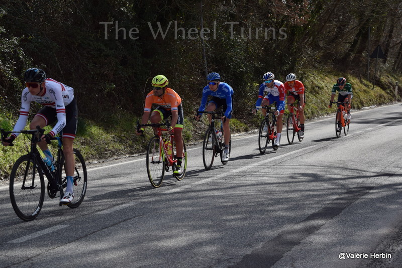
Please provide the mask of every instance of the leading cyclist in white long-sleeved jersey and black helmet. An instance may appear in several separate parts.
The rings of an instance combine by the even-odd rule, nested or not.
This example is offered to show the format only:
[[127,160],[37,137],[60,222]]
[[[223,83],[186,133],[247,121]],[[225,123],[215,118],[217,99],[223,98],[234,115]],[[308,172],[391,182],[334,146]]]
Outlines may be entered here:
[[[66,159],[67,188],[60,203],[69,204],[74,198],[72,176],[74,174],[75,160],[73,142],[77,131],[78,117],[74,89],[51,78],[46,79],[45,72],[39,68],[28,69],[24,74],[24,80],[26,88],[21,96],[20,117],[13,131],[24,129],[27,124],[31,102],[37,102],[45,107],[36,113],[29,125],[30,129],[36,129],[37,125],[43,128],[57,120],[53,129],[41,137],[42,142],[38,142],[38,146],[54,164],[54,158],[46,142],[49,142],[49,139],[57,133],[62,132],[63,153]],[[10,137],[2,141],[3,145],[10,145],[18,135],[19,133],[12,133]]]

